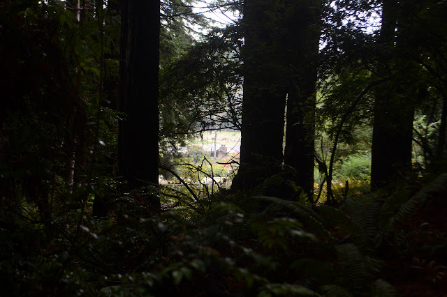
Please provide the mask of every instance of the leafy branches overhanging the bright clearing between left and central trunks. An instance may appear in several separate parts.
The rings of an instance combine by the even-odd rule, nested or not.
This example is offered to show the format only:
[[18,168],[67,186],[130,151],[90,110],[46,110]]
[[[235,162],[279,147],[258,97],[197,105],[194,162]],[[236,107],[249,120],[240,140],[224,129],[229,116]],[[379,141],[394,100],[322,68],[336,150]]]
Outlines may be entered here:
[[241,33],[210,32],[161,70],[161,144],[212,128],[240,128]]

